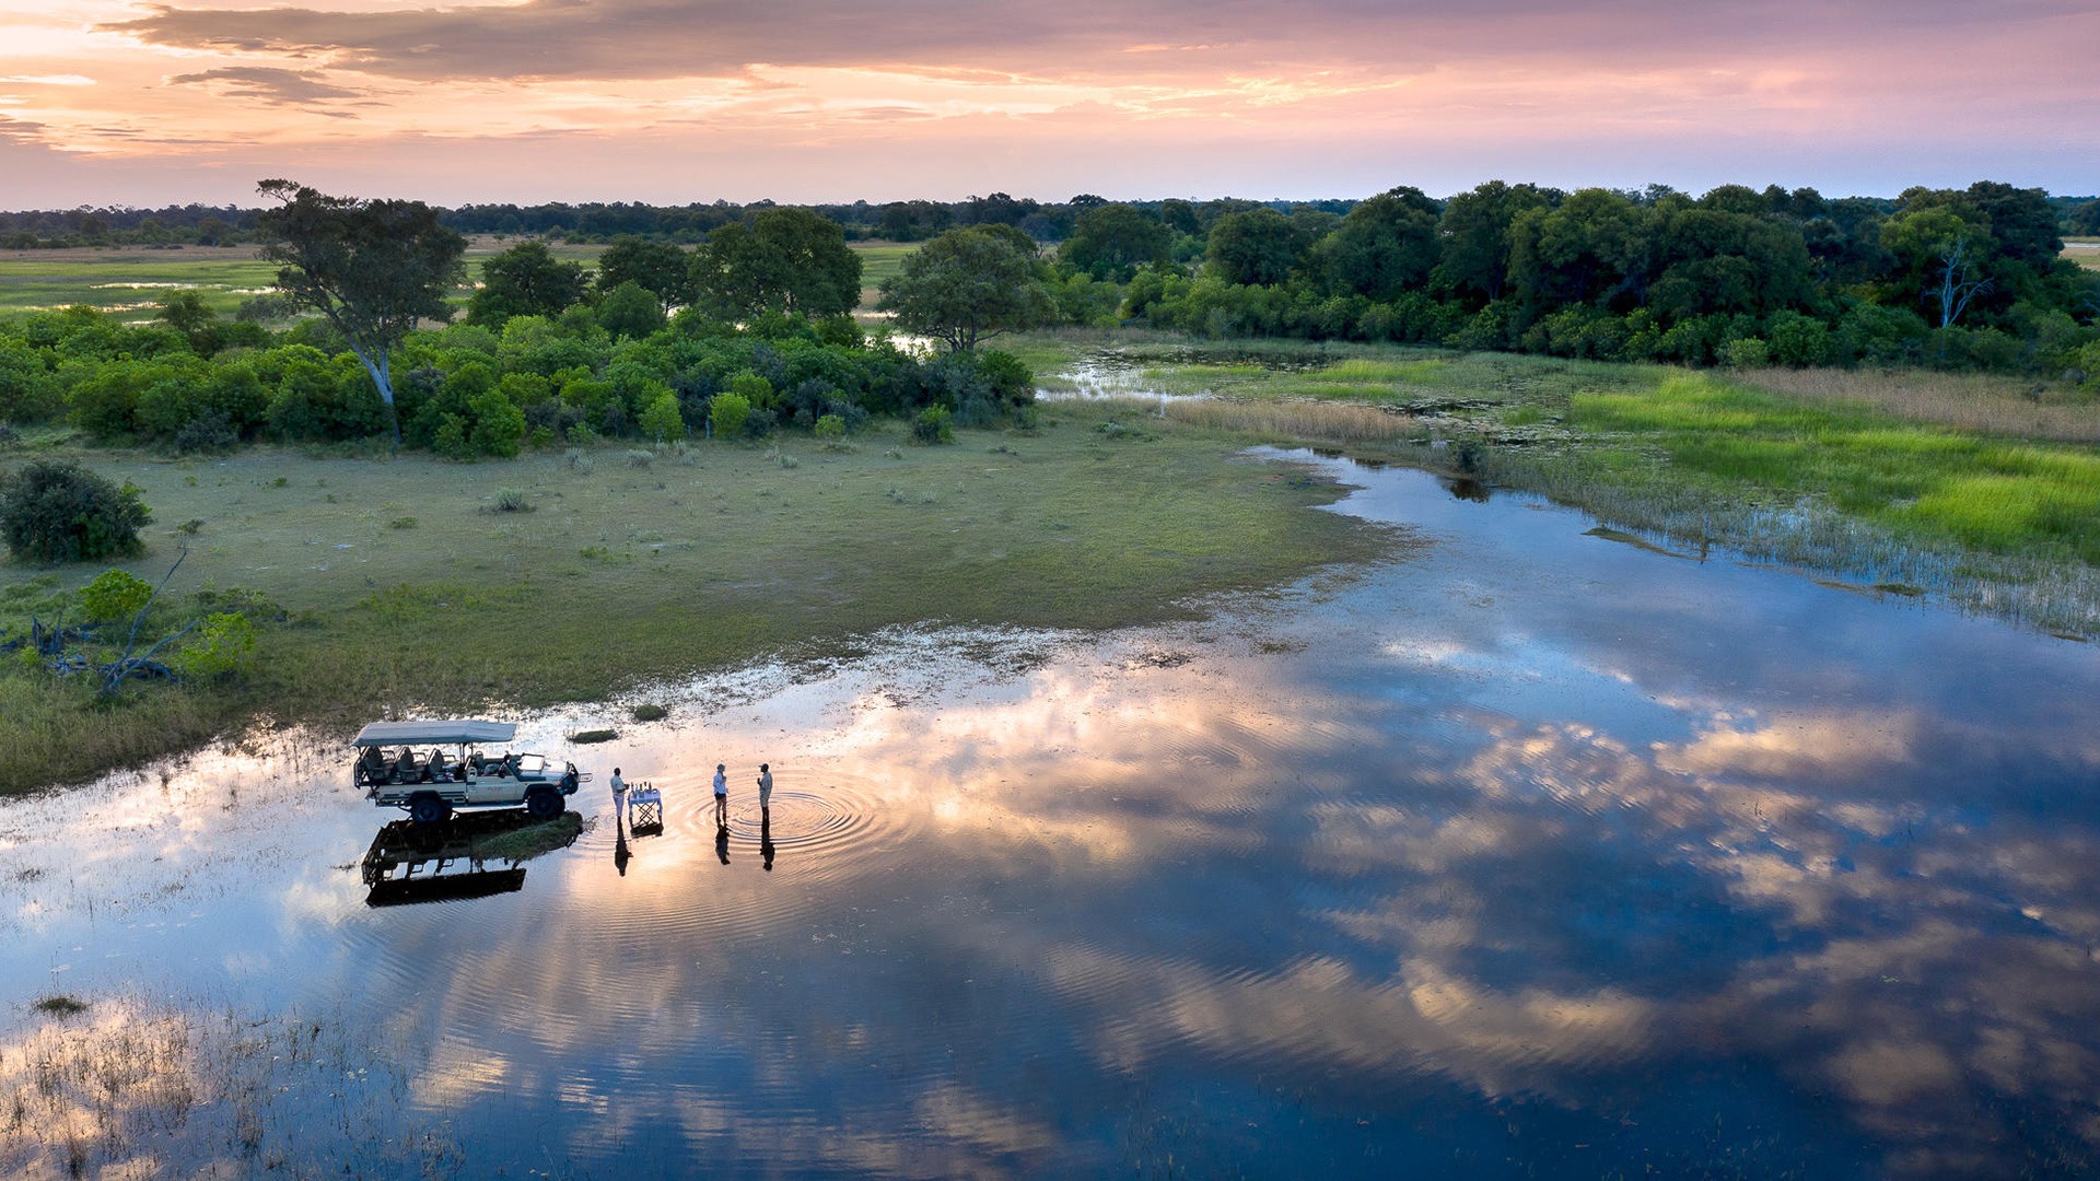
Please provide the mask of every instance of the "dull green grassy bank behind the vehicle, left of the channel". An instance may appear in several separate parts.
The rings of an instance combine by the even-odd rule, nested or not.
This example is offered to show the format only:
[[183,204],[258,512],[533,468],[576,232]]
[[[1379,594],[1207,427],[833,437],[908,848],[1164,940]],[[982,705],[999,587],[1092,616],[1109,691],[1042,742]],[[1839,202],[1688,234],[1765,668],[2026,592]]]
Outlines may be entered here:
[[[155,515],[153,553],[124,569],[158,582],[187,544],[170,595],[250,588],[290,620],[235,685],[147,685],[116,706],[86,679],[13,664],[0,790],[183,750],[256,714],[349,731],[380,712],[603,700],[890,624],[1184,618],[1193,597],[1386,544],[1306,511],[1336,490],[1237,446],[1178,422],[1109,435],[1052,410],[1035,433],[964,431],[951,448],[892,429],[848,452],[792,439],[487,464],[88,452]],[[48,597],[99,569],[6,565],[0,620],[19,630],[42,605],[50,622]]]

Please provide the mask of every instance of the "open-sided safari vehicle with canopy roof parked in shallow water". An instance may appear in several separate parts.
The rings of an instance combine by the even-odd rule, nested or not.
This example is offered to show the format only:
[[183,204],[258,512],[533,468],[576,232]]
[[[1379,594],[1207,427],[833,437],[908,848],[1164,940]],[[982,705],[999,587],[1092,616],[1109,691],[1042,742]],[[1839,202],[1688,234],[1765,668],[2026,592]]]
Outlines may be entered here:
[[437,824],[456,807],[519,807],[538,820],[561,815],[578,784],[575,763],[546,754],[489,757],[483,744],[517,735],[506,721],[376,721],[357,731],[357,786],[378,807],[399,807],[420,824]]

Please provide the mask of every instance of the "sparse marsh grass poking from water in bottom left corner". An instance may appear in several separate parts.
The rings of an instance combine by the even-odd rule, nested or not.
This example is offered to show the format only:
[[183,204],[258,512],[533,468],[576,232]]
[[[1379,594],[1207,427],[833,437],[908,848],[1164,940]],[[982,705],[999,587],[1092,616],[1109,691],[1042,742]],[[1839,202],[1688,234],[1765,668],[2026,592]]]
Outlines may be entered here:
[[420,1177],[464,1164],[338,1019],[97,1000],[0,1044],[6,1177]]

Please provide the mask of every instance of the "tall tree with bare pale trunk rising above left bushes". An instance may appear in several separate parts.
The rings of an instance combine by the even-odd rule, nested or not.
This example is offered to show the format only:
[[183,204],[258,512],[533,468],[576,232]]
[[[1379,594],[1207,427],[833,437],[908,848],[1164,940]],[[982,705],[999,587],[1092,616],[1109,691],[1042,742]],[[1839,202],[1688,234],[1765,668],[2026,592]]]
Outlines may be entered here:
[[452,290],[466,277],[466,240],[422,202],[330,198],[294,181],[256,189],[279,202],[256,216],[262,258],[277,288],[328,317],[372,374],[386,424],[401,446],[388,355],[418,322],[452,319]]

